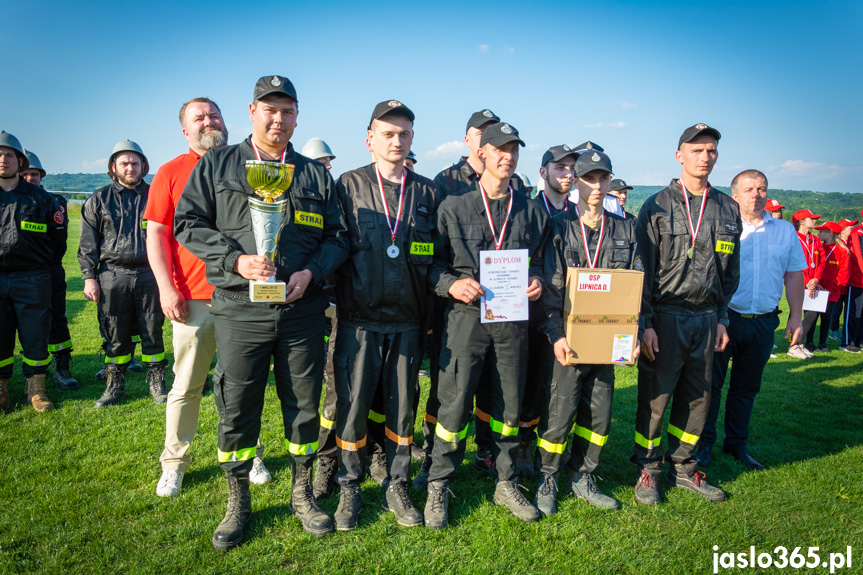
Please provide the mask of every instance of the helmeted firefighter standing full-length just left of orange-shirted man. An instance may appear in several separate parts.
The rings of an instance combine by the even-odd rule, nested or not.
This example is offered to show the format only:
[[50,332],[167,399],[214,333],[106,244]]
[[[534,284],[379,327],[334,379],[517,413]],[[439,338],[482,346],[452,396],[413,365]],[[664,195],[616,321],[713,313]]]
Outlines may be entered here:
[[[147,260],[144,208],[150,171],[141,147],[131,140],[114,146],[108,159],[112,184],[93,192],[81,208],[78,263],[84,295],[98,303],[108,341],[105,392],[96,407],[126,399],[126,370],[132,359],[133,324],[141,327],[141,359],[154,403],[165,403],[165,315],[159,287]],[[134,322],[133,319],[134,318]]]

